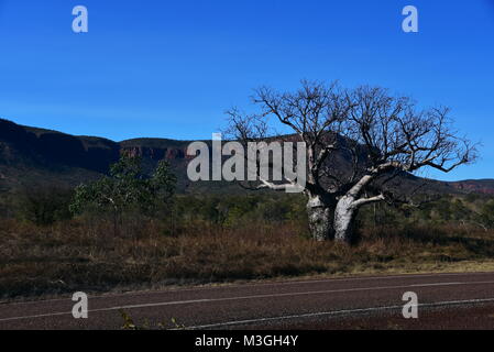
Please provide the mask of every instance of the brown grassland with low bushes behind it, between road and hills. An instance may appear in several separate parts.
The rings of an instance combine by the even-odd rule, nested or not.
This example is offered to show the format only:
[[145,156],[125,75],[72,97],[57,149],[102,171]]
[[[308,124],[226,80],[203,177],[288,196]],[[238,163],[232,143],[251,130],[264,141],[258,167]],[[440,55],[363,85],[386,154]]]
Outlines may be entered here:
[[[51,193],[53,195],[53,190]],[[494,268],[494,199],[366,207],[349,246],[316,242],[303,195],[176,195],[160,216],[66,210],[32,194],[0,222],[3,298],[242,279]],[[36,224],[37,223],[37,224]]]

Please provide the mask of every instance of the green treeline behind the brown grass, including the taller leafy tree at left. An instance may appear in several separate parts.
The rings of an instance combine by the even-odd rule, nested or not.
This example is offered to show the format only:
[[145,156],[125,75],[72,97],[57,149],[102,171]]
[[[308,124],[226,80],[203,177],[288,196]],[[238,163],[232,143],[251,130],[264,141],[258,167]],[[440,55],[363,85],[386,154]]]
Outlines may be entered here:
[[[52,226],[74,218],[108,220],[113,232],[132,218],[157,221],[168,235],[208,229],[275,227],[290,224],[307,233],[306,199],[284,193],[244,195],[176,195],[176,178],[166,163],[152,176],[142,173],[141,161],[122,157],[110,174],[75,189],[26,188],[21,195],[3,197],[0,217],[15,218],[36,226]],[[444,195],[419,206],[375,204],[363,208],[358,228],[406,224],[494,228],[494,197],[486,195]]]

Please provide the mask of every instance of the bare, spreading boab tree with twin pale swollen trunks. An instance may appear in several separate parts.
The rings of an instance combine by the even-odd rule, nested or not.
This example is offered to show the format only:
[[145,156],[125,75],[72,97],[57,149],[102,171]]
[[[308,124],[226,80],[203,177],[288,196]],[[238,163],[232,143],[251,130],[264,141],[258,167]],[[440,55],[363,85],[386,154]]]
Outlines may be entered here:
[[[305,142],[303,191],[318,241],[351,242],[359,209],[394,197],[386,185],[397,176],[427,167],[448,173],[476,157],[475,145],[452,129],[448,108],[419,109],[409,97],[380,87],[301,81],[294,92],[259,88],[252,102],[255,113],[227,111],[229,135],[244,143],[286,134]],[[274,127],[289,133],[270,133]],[[257,182],[256,189],[294,186],[293,179]]]

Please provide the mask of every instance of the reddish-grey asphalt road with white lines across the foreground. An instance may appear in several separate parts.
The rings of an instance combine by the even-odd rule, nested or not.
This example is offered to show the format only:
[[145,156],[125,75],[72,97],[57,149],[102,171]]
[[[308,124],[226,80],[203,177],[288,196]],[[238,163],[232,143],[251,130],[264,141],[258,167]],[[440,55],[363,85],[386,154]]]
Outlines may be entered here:
[[[405,319],[403,295],[418,297]],[[0,329],[494,329],[494,273],[276,282],[0,304]],[[172,320],[175,322],[172,322]]]

